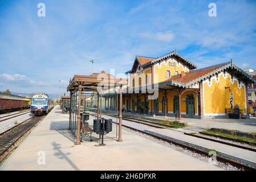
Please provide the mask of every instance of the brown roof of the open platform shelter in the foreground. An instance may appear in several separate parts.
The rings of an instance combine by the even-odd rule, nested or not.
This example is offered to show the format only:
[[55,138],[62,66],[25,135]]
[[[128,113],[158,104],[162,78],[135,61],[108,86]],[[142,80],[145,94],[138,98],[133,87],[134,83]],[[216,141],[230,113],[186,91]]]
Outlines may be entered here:
[[109,90],[128,85],[128,79],[115,77],[111,74],[105,73],[105,71],[101,71],[100,73],[92,73],[92,75],[74,75],[72,80],[70,80],[67,91],[76,91],[78,90],[79,85],[84,91],[99,90],[97,89],[98,86],[100,86],[102,90]]

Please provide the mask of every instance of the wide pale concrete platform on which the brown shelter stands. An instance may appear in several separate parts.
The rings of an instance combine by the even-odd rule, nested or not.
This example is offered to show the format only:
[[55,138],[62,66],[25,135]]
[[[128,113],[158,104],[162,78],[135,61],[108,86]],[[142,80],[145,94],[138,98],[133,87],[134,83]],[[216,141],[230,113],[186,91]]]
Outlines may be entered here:
[[124,142],[116,142],[115,127],[105,138],[106,146],[99,146],[98,135],[94,142],[87,138],[75,146],[67,130],[68,114],[56,106],[0,170],[220,170],[132,131],[123,130]]

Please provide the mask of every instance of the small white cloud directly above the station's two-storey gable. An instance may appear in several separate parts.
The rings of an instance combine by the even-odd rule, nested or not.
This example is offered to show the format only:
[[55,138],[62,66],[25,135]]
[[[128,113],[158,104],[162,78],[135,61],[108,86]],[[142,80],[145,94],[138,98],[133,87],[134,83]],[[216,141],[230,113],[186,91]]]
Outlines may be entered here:
[[155,39],[155,40],[159,40],[159,41],[162,41],[162,42],[171,42],[174,38],[174,35],[170,31],[156,32],[154,34],[142,33],[141,36],[143,38]]

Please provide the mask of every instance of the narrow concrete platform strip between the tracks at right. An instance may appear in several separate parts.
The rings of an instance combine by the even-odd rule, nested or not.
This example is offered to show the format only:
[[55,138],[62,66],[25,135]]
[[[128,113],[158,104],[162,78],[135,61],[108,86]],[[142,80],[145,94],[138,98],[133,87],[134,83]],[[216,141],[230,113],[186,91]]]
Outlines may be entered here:
[[249,164],[251,167],[256,168],[256,152],[185,135],[181,132],[182,130],[148,129],[145,131],[156,136],[173,140],[174,142],[185,144],[186,146],[199,148],[205,152],[209,150],[216,150],[218,151],[219,155],[223,156],[224,158],[234,159],[238,162]]

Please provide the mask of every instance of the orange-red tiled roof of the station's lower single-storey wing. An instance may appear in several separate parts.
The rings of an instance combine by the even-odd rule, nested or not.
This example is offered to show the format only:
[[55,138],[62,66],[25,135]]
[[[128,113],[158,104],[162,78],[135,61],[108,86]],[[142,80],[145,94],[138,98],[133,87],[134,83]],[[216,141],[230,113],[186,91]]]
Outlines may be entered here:
[[[226,64],[229,64],[229,63],[226,63]],[[221,65],[216,65],[213,67],[198,69],[198,70],[195,70],[192,72],[185,73],[185,76],[182,76],[182,77],[181,77],[181,74],[177,75],[177,76],[172,76],[168,80],[165,80],[163,82],[175,81],[175,82],[179,82],[181,84],[188,84],[189,82],[196,80],[197,78],[208,75],[210,72],[216,71],[217,69],[224,67],[226,64],[221,64]]]

